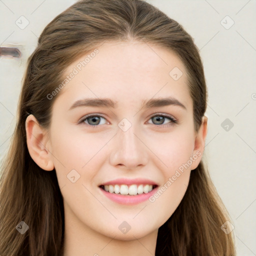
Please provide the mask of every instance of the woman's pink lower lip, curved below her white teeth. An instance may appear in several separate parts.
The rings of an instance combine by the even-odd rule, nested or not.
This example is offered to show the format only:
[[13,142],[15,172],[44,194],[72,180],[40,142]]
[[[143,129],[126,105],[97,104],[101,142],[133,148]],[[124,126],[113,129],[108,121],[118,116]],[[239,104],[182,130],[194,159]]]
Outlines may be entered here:
[[137,204],[147,200],[150,196],[152,196],[156,192],[157,186],[148,193],[142,193],[142,194],[136,194],[136,195],[115,194],[115,193],[107,192],[101,187],[99,187],[99,189],[102,191],[102,193],[106,197],[108,197],[110,200],[114,202],[117,202],[120,204],[132,205],[132,204]]

